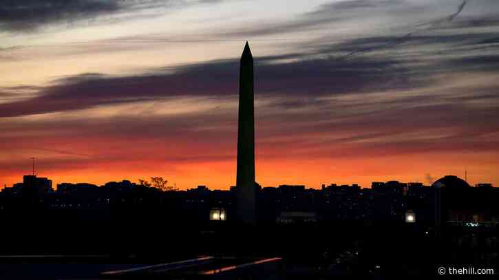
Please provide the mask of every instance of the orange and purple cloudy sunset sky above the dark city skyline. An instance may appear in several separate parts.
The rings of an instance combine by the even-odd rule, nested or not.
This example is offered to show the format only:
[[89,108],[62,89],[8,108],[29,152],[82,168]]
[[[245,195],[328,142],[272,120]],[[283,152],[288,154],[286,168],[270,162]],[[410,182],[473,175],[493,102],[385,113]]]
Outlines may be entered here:
[[3,0],[0,188],[229,189],[246,40],[262,186],[499,186],[497,0]]

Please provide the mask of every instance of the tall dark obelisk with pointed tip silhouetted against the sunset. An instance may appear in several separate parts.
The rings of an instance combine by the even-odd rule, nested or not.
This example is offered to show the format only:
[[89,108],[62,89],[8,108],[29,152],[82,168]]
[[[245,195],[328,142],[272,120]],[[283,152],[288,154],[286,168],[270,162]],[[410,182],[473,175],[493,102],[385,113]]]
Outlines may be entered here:
[[255,94],[253,56],[246,42],[239,76],[239,122],[237,127],[237,220],[255,223]]

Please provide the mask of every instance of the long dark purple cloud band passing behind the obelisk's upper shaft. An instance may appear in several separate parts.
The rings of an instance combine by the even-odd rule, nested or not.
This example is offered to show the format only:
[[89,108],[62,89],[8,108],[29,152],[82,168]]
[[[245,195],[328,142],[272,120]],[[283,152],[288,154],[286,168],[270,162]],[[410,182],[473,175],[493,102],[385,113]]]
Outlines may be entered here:
[[[390,60],[300,59],[277,63],[290,56],[256,58],[257,91],[262,96],[325,96],[393,87],[414,87]],[[293,57],[291,55],[291,57]],[[296,57],[301,57],[297,54]],[[83,74],[57,80],[35,98],[0,104],[0,118],[85,109],[98,105],[204,96],[224,98],[237,94],[239,61],[211,61],[182,67],[153,69],[141,76]],[[210,75],[206,75],[210,73]],[[397,82],[398,81],[398,82]]]

